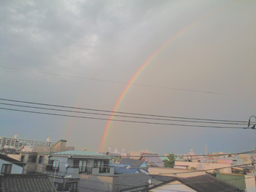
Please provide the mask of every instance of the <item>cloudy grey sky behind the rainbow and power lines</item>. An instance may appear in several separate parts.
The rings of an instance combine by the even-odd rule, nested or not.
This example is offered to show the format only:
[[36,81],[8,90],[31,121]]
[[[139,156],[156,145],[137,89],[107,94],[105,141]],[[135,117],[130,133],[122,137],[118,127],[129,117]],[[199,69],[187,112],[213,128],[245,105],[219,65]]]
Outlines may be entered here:
[[[256,116],[253,0],[0,1],[0,15],[1,99],[112,111],[160,50],[118,111],[243,122]],[[63,139],[76,150],[99,151],[106,124],[0,109],[0,137]],[[243,152],[255,144],[252,129],[112,122],[103,151],[204,154],[206,145],[208,152]]]

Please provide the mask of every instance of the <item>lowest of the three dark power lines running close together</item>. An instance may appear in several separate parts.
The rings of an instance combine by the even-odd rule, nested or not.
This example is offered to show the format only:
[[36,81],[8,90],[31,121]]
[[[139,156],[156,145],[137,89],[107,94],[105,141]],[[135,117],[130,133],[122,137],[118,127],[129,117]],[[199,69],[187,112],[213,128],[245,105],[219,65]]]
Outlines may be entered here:
[[[21,111],[27,112],[32,114],[47,114],[47,115],[54,115],[54,116],[68,116],[68,117],[76,117],[82,119],[97,119],[97,120],[109,120],[105,118],[98,118],[98,117],[90,117],[90,116],[75,116],[75,115],[67,115],[67,114],[52,114],[52,113],[45,113],[45,112],[38,112],[38,111],[27,111],[27,110],[19,110],[19,109],[9,109],[0,107],[0,109],[9,110],[9,111]],[[194,124],[168,124],[168,123],[159,123],[159,122],[139,122],[139,121],[129,121],[129,120],[121,120],[121,119],[112,119],[115,122],[131,122],[131,123],[140,123],[140,124],[159,124],[159,125],[169,125],[169,126],[181,126],[181,127],[204,127],[204,128],[216,128],[216,129],[247,129],[247,127],[220,127],[220,126],[205,126],[205,125],[194,125]]]

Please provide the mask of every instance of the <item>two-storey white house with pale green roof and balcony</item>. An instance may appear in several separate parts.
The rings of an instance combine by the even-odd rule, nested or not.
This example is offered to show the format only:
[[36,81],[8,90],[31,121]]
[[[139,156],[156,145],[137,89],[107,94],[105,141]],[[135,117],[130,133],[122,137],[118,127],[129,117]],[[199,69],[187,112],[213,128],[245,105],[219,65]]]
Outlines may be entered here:
[[78,183],[83,185],[81,174],[113,175],[114,168],[109,167],[111,157],[97,152],[70,150],[52,153],[46,167],[58,191],[77,191]]

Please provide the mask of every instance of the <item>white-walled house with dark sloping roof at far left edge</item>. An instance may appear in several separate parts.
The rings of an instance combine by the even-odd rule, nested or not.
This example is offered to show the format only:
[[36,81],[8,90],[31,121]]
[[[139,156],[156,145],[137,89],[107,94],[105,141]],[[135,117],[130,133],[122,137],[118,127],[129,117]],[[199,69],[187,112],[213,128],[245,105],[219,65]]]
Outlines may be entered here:
[[0,154],[1,174],[23,173],[24,165],[26,164],[19,160]]

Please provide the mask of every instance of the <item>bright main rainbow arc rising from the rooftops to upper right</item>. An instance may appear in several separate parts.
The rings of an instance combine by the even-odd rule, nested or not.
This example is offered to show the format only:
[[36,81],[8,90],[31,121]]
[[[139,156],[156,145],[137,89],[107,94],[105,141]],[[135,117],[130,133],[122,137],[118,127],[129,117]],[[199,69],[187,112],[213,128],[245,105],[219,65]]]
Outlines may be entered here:
[[151,56],[150,58],[148,58],[145,63],[142,64],[142,66],[139,68],[139,70],[137,70],[137,72],[134,74],[134,76],[131,78],[131,80],[129,81],[129,83],[127,83],[127,86],[124,88],[124,90],[122,91],[121,95],[119,96],[119,99],[116,101],[116,104],[114,106],[114,109],[112,110],[113,112],[111,113],[111,115],[109,116],[109,120],[106,123],[106,127],[104,129],[104,134],[101,140],[101,145],[99,147],[99,152],[102,152],[103,148],[104,148],[104,143],[106,141],[106,137],[109,134],[109,129],[111,127],[112,124],[112,119],[114,118],[114,114],[115,111],[117,111],[119,109],[119,106],[122,104],[122,101],[124,99],[124,97],[126,96],[127,92],[129,91],[129,88],[132,86],[132,83],[134,83],[134,81],[137,79],[138,76],[140,76],[140,73],[142,73],[142,71],[147,67],[148,64],[150,64],[150,62],[156,57],[156,55],[158,53],[161,52],[161,50],[163,50],[170,42],[173,42],[173,40],[177,39],[178,37],[180,37],[180,35],[183,35],[185,32],[188,31],[188,29],[191,29],[193,27],[196,26],[196,24],[204,21],[205,19],[207,19],[208,17],[221,12],[223,9],[226,9],[227,7],[230,6],[234,6],[234,4],[238,4],[240,1],[237,1],[233,4],[229,4],[228,6],[224,6],[221,7],[220,9],[214,10],[213,12],[207,14],[205,17],[201,17],[200,19],[196,20],[196,22],[193,22],[192,24],[189,24],[188,27],[185,27],[184,29],[180,30],[180,32],[178,32],[176,35],[174,35],[173,37],[171,37],[167,42],[165,42],[162,46],[160,46]]

